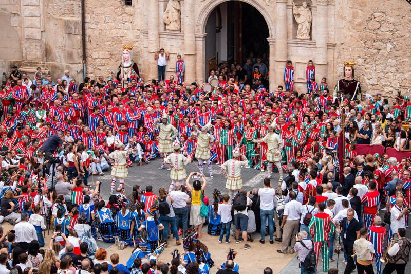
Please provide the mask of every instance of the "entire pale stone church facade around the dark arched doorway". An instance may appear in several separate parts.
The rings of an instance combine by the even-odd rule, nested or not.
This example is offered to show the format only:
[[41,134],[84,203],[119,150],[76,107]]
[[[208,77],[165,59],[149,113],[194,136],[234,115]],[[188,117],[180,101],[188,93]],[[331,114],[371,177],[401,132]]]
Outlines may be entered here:
[[[227,0],[0,0],[0,71],[40,66],[61,77],[68,69],[81,81],[108,76],[121,62],[123,44],[133,45],[141,76],[157,79],[154,52],[170,53],[166,78],[177,54],[185,61],[186,82],[206,75],[206,25],[210,13]],[[169,5],[169,2],[172,2]],[[270,89],[283,84],[287,60],[296,70],[297,90],[305,87],[312,59],[317,82],[330,87],[342,77],[342,62],[354,61],[363,90],[387,96],[411,88],[411,5],[406,0],[310,0],[310,38],[297,38],[292,0],[242,0],[264,17],[269,37]],[[179,14],[167,7],[175,4]],[[300,7],[303,0],[295,0]],[[170,20],[170,16],[173,17]],[[174,21],[173,21],[174,20]],[[176,20],[179,21],[176,24]],[[173,21],[173,24],[170,23]]]

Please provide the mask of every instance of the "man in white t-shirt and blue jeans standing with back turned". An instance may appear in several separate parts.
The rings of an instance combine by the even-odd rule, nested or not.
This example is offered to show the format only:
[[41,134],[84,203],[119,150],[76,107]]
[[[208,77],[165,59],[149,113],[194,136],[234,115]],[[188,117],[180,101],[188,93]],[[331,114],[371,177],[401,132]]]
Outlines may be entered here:
[[266,234],[266,224],[268,218],[268,233],[270,235],[270,244],[274,243],[273,234],[273,215],[274,215],[274,196],[275,190],[271,188],[270,178],[264,179],[264,188],[258,190],[258,196],[260,197],[260,217],[261,217],[261,239],[260,243],[264,244]]

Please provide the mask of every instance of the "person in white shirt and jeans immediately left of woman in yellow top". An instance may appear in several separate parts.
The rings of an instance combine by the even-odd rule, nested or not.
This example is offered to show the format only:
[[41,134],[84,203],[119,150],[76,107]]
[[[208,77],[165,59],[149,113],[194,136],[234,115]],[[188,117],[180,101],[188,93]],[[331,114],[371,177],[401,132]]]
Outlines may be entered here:
[[174,214],[176,214],[177,227],[183,228],[183,238],[185,238],[188,226],[188,214],[189,209],[187,207],[187,201],[190,200],[190,196],[187,193],[181,191],[181,184],[177,182],[174,185],[174,190],[169,192],[169,196],[173,199]]

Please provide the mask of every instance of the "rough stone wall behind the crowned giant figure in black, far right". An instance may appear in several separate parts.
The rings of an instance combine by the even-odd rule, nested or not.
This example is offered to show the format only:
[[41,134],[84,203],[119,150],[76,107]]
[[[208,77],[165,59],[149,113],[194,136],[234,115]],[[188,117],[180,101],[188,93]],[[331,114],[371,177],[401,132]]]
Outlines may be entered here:
[[405,0],[338,1],[335,79],[342,61],[356,62],[355,77],[370,94],[395,97],[411,88],[411,5]]

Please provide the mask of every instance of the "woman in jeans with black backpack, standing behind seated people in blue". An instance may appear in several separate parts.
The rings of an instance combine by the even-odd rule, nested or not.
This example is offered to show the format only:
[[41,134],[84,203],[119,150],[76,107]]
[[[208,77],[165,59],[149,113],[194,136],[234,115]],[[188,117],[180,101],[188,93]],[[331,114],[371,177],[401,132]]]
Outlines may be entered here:
[[[169,238],[169,224],[173,235],[176,238],[176,245],[180,245],[180,237],[178,235],[178,229],[176,225],[176,214],[174,213],[172,203],[174,202],[172,197],[167,195],[164,188],[158,189],[158,208],[160,212],[160,223],[163,224],[163,241],[168,242]],[[168,212],[168,213],[167,213]]]

